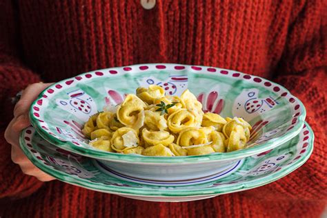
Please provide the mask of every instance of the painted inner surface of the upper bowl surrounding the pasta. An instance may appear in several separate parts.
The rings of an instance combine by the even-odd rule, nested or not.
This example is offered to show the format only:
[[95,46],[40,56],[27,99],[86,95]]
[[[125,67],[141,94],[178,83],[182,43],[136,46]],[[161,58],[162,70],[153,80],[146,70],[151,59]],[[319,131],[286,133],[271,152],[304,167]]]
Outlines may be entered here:
[[205,112],[243,117],[252,125],[245,150],[256,146],[257,152],[262,152],[265,149],[260,146],[266,144],[268,150],[291,139],[301,130],[306,116],[296,97],[260,77],[204,66],[148,64],[87,72],[55,83],[32,104],[32,125],[42,137],[67,150],[90,156],[119,156],[89,146],[81,133],[83,123],[107,104],[121,103],[126,94],[150,84],[177,96],[188,88]]

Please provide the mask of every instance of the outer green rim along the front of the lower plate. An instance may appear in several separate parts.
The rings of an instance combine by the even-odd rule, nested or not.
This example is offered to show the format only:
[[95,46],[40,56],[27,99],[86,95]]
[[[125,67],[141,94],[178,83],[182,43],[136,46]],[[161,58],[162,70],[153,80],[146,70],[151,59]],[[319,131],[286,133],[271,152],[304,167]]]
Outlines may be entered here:
[[[271,175],[267,175],[265,177],[261,177],[257,179],[257,183],[254,181],[245,181],[242,184],[238,184],[237,186],[235,184],[226,184],[218,187],[212,187],[206,190],[138,190],[137,188],[131,188],[131,187],[119,187],[117,186],[106,186],[105,184],[101,184],[101,187],[105,188],[95,188],[91,186],[90,182],[83,181],[83,179],[79,177],[73,177],[71,179],[72,175],[68,175],[64,172],[61,172],[59,170],[54,170],[50,167],[44,166],[44,164],[41,164],[41,161],[37,159],[35,156],[31,155],[31,153],[28,151],[28,148],[25,146],[25,139],[23,139],[23,135],[25,130],[21,132],[21,137],[19,138],[20,142],[20,147],[23,150],[23,152],[26,154],[28,159],[32,161],[32,164],[42,170],[43,172],[48,173],[49,175],[52,175],[52,177],[55,177],[56,179],[66,182],[68,184],[72,184],[74,186],[80,186],[82,188],[88,188],[90,190],[96,190],[99,192],[106,192],[106,193],[111,193],[111,194],[123,194],[123,195],[133,195],[133,196],[157,196],[157,197],[188,197],[188,196],[198,196],[198,195],[222,195],[222,194],[228,194],[231,192],[239,192],[243,190],[248,190],[252,188],[257,188],[259,186],[264,186],[266,184],[270,184],[273,181],[277,181],[278,179],[281,179],[281,177],[285,177],[286,175],[290,174],[290,172],[293,172],[294,170],[297,170],[300,166],[306,163],[306,161],[310,158],[310,155],[313,152],[314,148],[314,140],[315,140],[315,135],[313,133],[312,128],[308,125],[308,123],[305,122],[306,128],[309,131],[308,135],[308,152],[306,152],[306,155],[301,156],[299,159],[296,160],[296,162],[292,163],[288,168],[284,168],[281,170],[278,170],[277,172],[273,172]],[[303,129],[306,129],[303,128]],[[291,167],[292,166],[292,167]],[[68,177],[70,179],[65,178]],[[75,182],[73,182],[75,181]],[[95,184],[95,186],[99,186],[99,184]],[[144,192],[147,192],[148,195],[144,195]]]

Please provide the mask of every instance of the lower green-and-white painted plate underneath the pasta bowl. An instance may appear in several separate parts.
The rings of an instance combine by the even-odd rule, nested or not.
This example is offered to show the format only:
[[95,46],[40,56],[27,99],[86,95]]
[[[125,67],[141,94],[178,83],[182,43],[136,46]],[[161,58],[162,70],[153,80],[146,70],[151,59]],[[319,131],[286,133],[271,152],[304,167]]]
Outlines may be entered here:
[[75,186],[147,201],[190,201],[263,186],[304,164],[313,151],[313,131],[306,123],[299,135],[273,150],[206,178],[158,182],[135,179],[102,166],[99,161],[53,146],[33,127],[21,133],[23,152],[44,172]]

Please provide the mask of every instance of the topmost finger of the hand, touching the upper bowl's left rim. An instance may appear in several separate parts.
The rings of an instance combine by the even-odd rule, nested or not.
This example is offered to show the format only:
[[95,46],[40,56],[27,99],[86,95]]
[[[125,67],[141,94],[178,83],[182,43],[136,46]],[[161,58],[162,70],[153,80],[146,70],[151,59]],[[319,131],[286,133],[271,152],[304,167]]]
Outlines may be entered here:
[[21,94],[21,99],[14,106],[14,117],[28,112],[30,104],[37,99],[37,96],[52,83],[34,83],[28,86]]

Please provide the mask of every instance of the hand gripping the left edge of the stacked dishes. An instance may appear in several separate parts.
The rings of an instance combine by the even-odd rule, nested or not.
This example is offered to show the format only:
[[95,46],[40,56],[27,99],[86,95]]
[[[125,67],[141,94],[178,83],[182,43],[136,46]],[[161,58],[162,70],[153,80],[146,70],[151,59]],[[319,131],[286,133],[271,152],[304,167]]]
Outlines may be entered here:
[[32,162],[24,155],[19,147],[19,134],[24,129],[30,126],[28,112],[31,103],[37,98],[39,93],[52,83],[34,83],[26,88],[21,95],[21,99],[14,106],[14,119],[9,123],[5,139],[12,145],[11,159],[15,164],[18,164],[26,175],[37,177],[40,181],[50,181],[54,178],[45,172],[39,170]]

